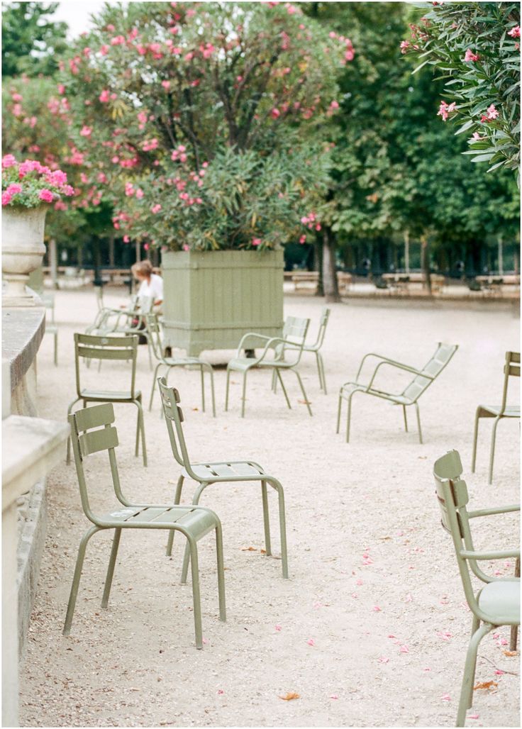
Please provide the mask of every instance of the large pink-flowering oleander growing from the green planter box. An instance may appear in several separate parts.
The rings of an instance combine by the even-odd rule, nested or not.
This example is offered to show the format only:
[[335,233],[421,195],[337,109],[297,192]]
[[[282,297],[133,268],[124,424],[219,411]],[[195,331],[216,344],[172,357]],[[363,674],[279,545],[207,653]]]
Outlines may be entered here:
[[114,227],[171,249],[292,235],[326,182],[322,121],[354,57],[334,35],[290,3],[106,6],[60,90]]

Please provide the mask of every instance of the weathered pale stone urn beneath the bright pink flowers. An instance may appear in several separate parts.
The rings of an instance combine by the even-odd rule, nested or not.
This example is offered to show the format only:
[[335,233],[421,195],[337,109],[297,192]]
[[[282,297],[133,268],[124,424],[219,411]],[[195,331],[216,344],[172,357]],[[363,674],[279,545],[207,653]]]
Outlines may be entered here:
[[35,303],[34,297],[26,292],[26,284],[31,271],[42,264],[47,208],[47,205],[41,205],[2,209],[1,270],[7,281],[2,290],[4,306],[32,306]]

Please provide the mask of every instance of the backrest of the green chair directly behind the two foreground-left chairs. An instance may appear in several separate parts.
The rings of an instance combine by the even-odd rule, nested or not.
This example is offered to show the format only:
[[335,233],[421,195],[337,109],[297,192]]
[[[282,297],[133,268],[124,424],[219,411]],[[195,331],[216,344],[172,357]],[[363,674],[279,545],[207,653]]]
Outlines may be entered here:
[[74,332],[74,367],[76,368],[76,391],[81,396],[80,358],[113,359],[131,362],[131,397],[135,397],[136,359],[138,356],[138,335],[101,335]]

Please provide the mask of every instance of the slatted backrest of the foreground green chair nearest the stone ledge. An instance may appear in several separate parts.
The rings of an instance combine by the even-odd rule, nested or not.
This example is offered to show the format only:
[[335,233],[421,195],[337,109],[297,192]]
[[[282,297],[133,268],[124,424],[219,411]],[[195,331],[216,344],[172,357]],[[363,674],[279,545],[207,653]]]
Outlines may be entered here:
[[83,467],[87,456],[98,453],[98,451],[108,451],[114,493],[117,499],[125,504],[125,498],[120,487],[116,453],[114,453],[114,448],[118,445],[118,434],[116,428],[112,425],[113,423],[114,408],[112,402],[104,403],[104,405],[93,405],[92,408],[83,408],[77,410],[76,413],[71,413],[69,416],[72,451],[74,453],[74,463],[76,464],[82,507],[87,518],[95,524],[99,523],[100,520],[93,513],[89,503]]

